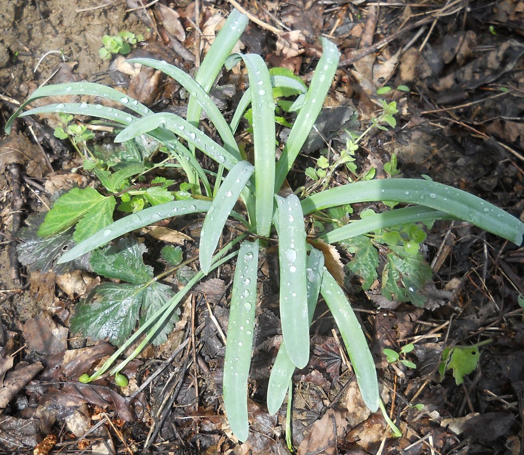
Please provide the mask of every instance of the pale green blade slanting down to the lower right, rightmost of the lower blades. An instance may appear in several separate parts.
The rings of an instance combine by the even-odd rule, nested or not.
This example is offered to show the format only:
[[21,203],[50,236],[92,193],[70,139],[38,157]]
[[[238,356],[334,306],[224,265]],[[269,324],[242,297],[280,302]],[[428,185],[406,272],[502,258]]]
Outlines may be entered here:
[[362,327],[358,323],[358,319],[355,313],[353,313],[353,308],[347,301],[344,291],[325,267],[320,293],[324,297],[337,327],[339,327],[364,403],[369,409],[376,412],[379,395],[373,356],[367,345]]

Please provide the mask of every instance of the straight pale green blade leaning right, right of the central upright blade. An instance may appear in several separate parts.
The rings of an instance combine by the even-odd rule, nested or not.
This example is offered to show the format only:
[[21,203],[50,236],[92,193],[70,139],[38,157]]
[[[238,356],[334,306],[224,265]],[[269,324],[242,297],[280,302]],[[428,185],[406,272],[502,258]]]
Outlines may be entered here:
[[320,114],[324,98],[328,94],[333,76],[339,66],[339,60],[340,52],[336,46],[331,41],[322,38],[322,57],[316,65],[308,93],[305,95],[304,104],[293,123],[286,146],[282,150],[282,156],[277,163],[275,193],[280,190],[286,175]]

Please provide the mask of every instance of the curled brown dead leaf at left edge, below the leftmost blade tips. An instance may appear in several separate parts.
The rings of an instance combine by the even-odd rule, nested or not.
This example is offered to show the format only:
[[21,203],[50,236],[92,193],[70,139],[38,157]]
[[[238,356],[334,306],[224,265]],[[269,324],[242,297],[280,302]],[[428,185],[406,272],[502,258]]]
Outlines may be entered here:
[[24,166],[31,177],[40,178],[52,171],[40,148],[19,134],[11,134],[0,141],[0,172],[14,163]]

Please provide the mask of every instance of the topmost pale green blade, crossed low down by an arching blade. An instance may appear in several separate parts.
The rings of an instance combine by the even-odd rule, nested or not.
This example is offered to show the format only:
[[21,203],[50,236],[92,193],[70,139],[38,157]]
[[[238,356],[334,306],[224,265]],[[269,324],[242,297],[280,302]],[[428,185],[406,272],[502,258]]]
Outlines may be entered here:
[[[213,44],[209,48],[204,60],[200,64],[195,81],[198,82],[205,92],[209,93],[216,76],[219,75],[225,59],[233,50],[236,42],[241,37],[244,29],[248,24],[247,16],[233,9],[226,20],[224,26],[220,29]],[[193,126],[198,126],[202,107],[194,96],[189,98],[188,113],[186,119]]]

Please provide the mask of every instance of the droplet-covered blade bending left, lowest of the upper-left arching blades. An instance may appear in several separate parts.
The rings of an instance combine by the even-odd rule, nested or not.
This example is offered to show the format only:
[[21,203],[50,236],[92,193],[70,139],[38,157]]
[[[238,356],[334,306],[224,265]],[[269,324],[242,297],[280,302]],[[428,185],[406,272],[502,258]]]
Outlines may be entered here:
[[175,114],[158,113],[141,118],[132,125],[119,132],[115,137],[115,142],[125,142],[134,139],[141,134],[148,133],[156,128],[166,128],[174,132],[177,136],[187,140],[190,144],[202,150],[208,157],[222,164],[226,169],[232,169],[238,160],[222,146],[217,144],[209,136],[205,135],[198,128],[195,128],[188,121]]

